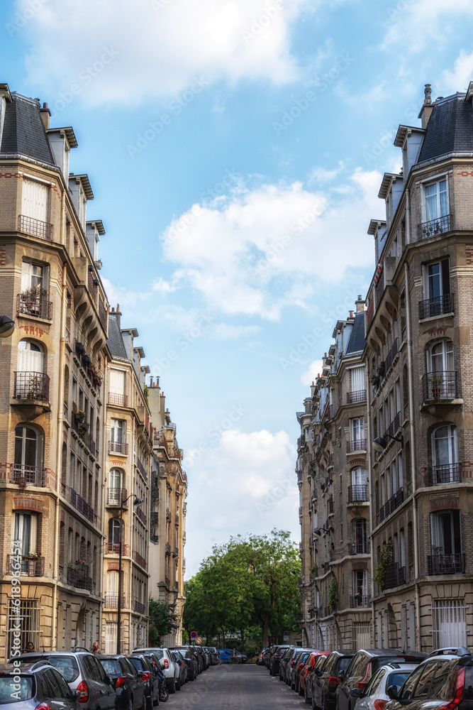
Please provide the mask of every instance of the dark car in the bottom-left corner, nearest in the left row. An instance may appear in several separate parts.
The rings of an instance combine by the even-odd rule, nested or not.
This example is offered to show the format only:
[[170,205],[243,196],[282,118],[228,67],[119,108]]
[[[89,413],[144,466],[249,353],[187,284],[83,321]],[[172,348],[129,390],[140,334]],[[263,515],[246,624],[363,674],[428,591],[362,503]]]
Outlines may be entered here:
[[[18,666],[13,663],[0,665],[0,705],[2,710],[35,710],[50,707],[51,710],[77,710],[79,692],[72,690],[59,671],[40,660],[22,663],[21,674],[12,688],[13,676]],[[16,698],[12,697],[12,693]]]

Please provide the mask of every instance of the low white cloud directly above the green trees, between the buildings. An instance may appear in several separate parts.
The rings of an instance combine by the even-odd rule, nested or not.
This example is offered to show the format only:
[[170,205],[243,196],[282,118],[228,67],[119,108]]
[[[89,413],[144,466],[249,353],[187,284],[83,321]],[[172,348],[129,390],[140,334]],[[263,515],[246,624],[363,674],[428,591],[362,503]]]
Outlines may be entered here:
[[[193,463],[198,454],[199,461]],[[295,460],[296,449],[284,431],[228,430],[208,452],[186,452],[183,466],[192,496],[187,527],[193,530],[186,553],[194,560],[187,577],[196,572],[212,542],[226,542],[230,535],[277,527],[292,530],[299,539]]]

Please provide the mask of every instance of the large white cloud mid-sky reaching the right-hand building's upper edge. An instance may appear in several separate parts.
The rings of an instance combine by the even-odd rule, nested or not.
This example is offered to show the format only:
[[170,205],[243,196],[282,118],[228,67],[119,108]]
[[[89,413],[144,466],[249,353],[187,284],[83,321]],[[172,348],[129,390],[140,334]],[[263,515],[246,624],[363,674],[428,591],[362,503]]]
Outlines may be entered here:
[[198,212],[194,205],[162,234],[174,279],[232,315],[277,320],[285,305],[308,307],[321,284],[341,283],[348,268],[372,261],[366,231],[379,213],[380,180],[357,168],[331,193],[294,182],[240,189]]

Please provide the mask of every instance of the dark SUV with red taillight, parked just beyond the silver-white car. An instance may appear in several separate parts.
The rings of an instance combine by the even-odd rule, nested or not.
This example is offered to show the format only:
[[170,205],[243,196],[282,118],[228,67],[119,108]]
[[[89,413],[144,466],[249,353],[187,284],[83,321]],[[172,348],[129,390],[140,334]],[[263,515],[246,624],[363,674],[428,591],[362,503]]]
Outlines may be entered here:
[[386,663],[420,663],[426,654],[418,651],[404,653],[399,648],[367,648],[357,651],[343,674],[335,692],[337,710],[354,710],[353,688],[365,690],[369,679]]

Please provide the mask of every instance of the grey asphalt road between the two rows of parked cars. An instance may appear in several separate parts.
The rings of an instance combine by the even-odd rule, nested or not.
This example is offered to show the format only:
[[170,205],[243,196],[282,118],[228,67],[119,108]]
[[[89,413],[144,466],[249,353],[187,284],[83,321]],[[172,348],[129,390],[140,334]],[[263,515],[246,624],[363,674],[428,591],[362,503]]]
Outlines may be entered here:
[[211,666],[182,690],[169,695],[162,710],[283,710],[310,708],[293,690],[253,663]]

